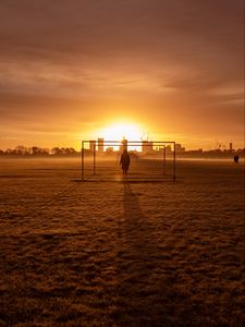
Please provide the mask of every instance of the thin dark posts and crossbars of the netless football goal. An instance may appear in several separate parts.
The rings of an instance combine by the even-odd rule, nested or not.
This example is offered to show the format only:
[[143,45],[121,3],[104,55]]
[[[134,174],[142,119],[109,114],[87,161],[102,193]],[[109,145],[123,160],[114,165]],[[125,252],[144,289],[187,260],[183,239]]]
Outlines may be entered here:
[[[126,146],[142,146],[144,141],[126,141]],[[99,146],[99,140],[83,140],[82,141],[82,148],[81,148],[81,181],[85,182],[85,145],[93,143],[93,175],[96,175],[96,148]],[[172,178],[173,181],[175,182],[176,180],[176,143],[175,141],[150,141],[152,146],[162,146],[162,164],[163,164],[163,174],[166,174],[166,167],[167,167],[167,152],[166,147],[167,145],[172,145],[173,146],[173,173]],[[107,141],[103,140],[103,146],[123,146],[123,141]],[[160,181],[160,179],[159,179]]]

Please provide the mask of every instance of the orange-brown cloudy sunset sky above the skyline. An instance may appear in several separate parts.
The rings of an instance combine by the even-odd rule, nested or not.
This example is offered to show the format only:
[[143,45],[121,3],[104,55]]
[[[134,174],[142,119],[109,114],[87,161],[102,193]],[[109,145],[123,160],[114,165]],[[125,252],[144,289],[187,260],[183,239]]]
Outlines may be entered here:
[[0,22],[0,148],[117,124],[244,147],[243,0],[1,0]]

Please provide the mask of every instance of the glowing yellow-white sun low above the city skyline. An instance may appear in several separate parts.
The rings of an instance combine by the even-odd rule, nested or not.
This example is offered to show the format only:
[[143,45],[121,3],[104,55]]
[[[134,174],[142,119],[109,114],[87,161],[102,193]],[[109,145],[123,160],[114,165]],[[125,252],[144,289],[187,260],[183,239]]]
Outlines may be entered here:
[[139,141],[142,132],[136,124],[115,123],[102,129],[100,134],[105,141]]

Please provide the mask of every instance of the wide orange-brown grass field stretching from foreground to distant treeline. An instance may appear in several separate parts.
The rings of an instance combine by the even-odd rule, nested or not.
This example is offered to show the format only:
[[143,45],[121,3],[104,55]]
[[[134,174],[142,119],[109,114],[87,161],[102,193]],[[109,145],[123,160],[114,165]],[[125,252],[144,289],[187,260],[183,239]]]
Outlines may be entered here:
[[79,167],[0,159],[0,326],[245,325],[243,162]]

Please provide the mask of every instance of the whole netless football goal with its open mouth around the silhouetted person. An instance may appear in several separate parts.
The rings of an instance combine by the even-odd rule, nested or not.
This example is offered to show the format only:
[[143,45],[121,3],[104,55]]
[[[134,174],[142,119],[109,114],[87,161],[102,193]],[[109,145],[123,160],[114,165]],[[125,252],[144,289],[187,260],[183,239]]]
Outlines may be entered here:
[[120,166],[123,150],[131,164],[126,179],[136,181],[175,181],[175,142],[155,141],[82,141],[82,181],[122,181]]

